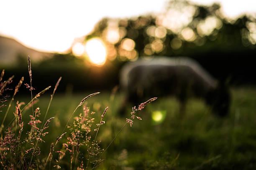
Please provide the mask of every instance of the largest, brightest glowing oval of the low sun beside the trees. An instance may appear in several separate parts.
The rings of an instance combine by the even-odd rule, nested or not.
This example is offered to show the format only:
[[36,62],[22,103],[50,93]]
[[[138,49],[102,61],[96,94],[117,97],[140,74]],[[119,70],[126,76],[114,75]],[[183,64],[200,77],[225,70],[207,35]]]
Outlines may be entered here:
[[87,53],[92,64],[103,65],[107,58],[107,50],[99,38],[92,38],[85,44],[85,52]]

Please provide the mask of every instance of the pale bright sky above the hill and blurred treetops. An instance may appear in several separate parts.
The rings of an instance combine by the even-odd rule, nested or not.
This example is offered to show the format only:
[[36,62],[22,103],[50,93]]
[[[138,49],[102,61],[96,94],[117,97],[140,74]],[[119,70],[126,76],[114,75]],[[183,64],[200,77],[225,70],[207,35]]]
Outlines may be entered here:
[[[193,0],[211,4],[215,0]],[[217,0],[223,13],[236,18],[256,13],[256,0]],[[2,0],[0,35],[36,50],[64,52],[74,38],[87,35],[103,17],[124,18],[161,13],[166,0]]]

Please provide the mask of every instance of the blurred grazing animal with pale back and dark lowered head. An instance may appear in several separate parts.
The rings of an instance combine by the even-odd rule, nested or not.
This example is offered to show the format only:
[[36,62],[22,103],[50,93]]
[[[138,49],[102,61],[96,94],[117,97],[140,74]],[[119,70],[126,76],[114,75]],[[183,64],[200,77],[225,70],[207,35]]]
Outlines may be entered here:
[[189,97],[202,98],[213,112],[228,113],[230,93],[196,61],[187,57],[158,57],[126,64],[120,72],[120,85],[125,92],[124,114],[128,102],[138,105],[150,97],[174,95],[184,111]]

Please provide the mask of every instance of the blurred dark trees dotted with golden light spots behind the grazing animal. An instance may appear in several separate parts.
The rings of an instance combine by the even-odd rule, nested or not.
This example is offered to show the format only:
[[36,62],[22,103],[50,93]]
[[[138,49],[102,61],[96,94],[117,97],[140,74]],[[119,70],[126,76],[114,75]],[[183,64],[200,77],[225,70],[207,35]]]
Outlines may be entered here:
[[[104,40],[109,60],[185,55],[195,58],[215,77],[236,78],[241,75],[238,68],[247,69],[244,73],[248,77],[248,61],[255,61],[256,54],[255,21],[246,15],[236,20],[225,18],[216,3],[202,6],[174,0],[161,14],[104,18],[85,41],[91,37]],[[233,66],[227,67],[230,62]]]

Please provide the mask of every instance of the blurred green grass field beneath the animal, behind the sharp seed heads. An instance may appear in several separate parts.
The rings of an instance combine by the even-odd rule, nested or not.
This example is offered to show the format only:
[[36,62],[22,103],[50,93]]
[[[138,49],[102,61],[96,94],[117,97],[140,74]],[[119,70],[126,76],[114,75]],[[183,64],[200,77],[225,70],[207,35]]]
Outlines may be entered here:
[[[69,116],[82,98],[88,93],[73,95],[54,95],[47,118],[55,117],[40,143],[40,157],[47,157],[51,142],[61,135]],[[168,169],[255,169],[256,168],[256,88],[236,87],[231,89],[232,103],[230,113],[221,118],[213,115],[200,100],[189,100],[186,114],[178,114],[179,103],[174,98],[159,98],[148,104],[137,115],[133,126],[128,124],[104,154],[105,161],[98,168],[102,170],[168,170]],[[152,96],[155,97],[155,96]],[[95,111],[95,124],[105,107],[109,107],[97,139],[102,139],[101,148],[106,148],[129,118],[117,115],[122,95],[110,99],[110,92],[101,92],[86,100],[87,106]],[[19,100],[29,102],[30,97],[18,95]],[[39,97],[34,108],[40,107],[43,120],[50,94]],[[144,102],[144,101],[141,101]],[[14,117],[14,104],[10,109],[5,125]],[[6,107],[1,114],[4,114]],[[24,132],[29,130],[27,122],[31,109],[23,112]],[[74,116],[82,113],[82,107]],[[1,122],[2,122],[1,118]],[[96,125],[95,125],[96,127]],[[92,132],[94,133],[94,132]],[[60,143],[66,139],[61,140]],[[59,147],[59,148],[58,148]],[[56,150],[60,149],[57,146]],[[82,149],[83,150],[83,149]],[[84,150],[85,151],[85,150]],[[81,152],[82,153],[82,152]],[[57,158],[57,153],[54,153]],[[62,168],[69,169],[70,155],[62,161]],[[54,161],[54,159],[53,159]]]

